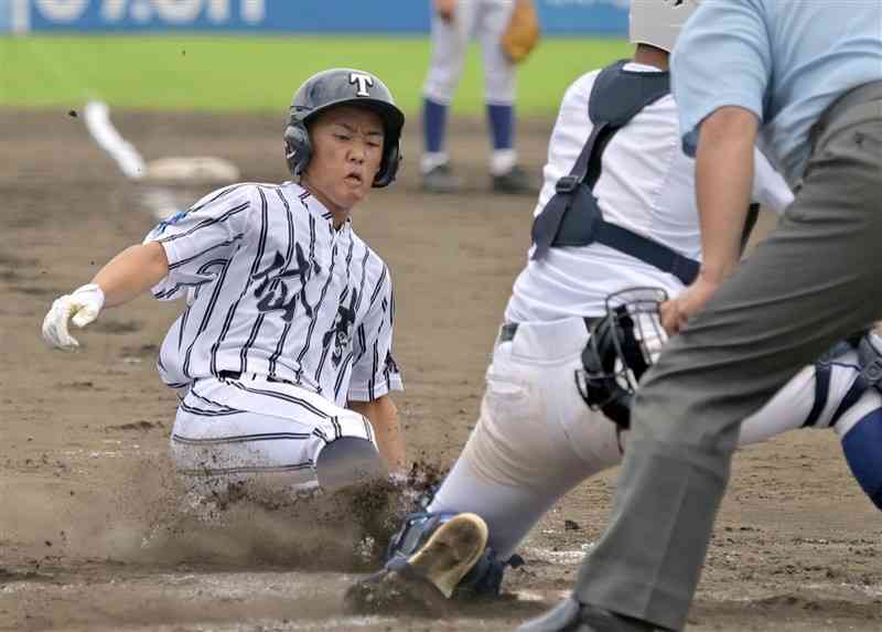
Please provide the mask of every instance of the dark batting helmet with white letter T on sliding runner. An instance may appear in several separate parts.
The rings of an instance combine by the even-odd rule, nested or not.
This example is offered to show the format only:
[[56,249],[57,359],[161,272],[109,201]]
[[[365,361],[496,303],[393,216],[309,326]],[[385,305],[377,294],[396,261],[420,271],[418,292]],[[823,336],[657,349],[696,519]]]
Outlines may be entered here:
[[354,68],[332,68],[311,76],[298,88],[288,110],[284,129],[284,157],[288,169],[300,175],[312,157],[306,127],[320,113],[343,105],[357,105],[376,111],[383,119],[383,161],[373,186],[395,180],[401,162],[401,128],[405,115],[398,109],[389,88],[376,75]]

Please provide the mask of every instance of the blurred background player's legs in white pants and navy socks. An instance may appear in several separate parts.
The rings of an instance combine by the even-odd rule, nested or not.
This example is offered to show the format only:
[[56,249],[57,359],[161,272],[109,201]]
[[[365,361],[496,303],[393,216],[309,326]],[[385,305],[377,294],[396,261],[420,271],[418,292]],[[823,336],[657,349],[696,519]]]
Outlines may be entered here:
[[493,142],[491,176],[501,193],[535,193],[536,188],[517,163],[515,150],[515,65],[499,44],[514,0],[432,0],[432,53],[423,85],[424,152],[422,188],[453,193],[460,180],[447,152],[449,106],[462,75],[469,42],[481,44],[487,121]]

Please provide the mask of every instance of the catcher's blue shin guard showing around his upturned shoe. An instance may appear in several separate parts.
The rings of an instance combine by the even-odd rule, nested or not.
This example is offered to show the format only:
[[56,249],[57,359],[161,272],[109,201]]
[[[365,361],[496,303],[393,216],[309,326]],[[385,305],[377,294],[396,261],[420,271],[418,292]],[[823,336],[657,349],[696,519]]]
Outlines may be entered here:
[[[442,524],[455,516],[455,512],[418,512],[409,514],[405,524],[386,550],[386,568],[397,570],[408,558],[417,553]],[[460,599],[470,597],[495,597],[499,594],[503,576],[507,567],[517,568],[524,564],[519,555],[501,560],[493,548],[487,547],[472,569],[456,586],[453,596]]]

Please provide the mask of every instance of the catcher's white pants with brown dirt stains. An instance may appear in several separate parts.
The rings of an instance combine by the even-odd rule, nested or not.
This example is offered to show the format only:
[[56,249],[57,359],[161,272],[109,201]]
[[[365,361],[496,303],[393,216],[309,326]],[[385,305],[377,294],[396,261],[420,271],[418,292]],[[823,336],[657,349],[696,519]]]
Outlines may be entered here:
[[[582,319],[573,318],[520,324],[514,340],[497,342],[481,418],[428,507],[480,514],[490,527],[488,546],[501,559],[563,494],[622,460],[615,425],[589,409],[576,386],[588,336]],[[859,373],[853,351],[837,358],[829,398],[813,427],[829,427]],[[802,427],[814,401],[815,368],[809,366],[742,424],[740,444]],[[845,436],[880,407],[882,396],[869,389],[836,422],[837,433]]]

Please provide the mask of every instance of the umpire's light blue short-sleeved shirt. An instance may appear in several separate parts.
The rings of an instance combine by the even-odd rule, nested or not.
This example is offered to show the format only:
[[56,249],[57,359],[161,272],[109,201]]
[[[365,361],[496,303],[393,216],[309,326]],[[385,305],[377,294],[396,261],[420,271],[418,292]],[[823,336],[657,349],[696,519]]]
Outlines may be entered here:
[[671,72],[686,153],[708,115],[740,106],[760,118],[764,149],[794,185],[821,113],[882,79],[882,0],[703,0]]

